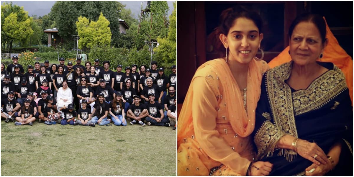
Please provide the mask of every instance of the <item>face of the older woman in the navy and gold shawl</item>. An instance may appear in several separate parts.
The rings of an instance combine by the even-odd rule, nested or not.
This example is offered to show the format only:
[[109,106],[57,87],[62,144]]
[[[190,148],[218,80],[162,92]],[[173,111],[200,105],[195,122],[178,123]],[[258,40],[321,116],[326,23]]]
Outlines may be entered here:
[[327,40],[322,43],[320,31],[312,22],[300,22],[293,30],[290,38],[290,56],[298,65],[316,62],[324,51]]

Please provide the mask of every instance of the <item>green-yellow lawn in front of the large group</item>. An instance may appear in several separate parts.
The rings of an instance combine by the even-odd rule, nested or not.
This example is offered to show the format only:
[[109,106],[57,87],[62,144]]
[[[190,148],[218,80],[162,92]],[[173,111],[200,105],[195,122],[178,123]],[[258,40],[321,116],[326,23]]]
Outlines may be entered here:
[[176,176],[176,131],[1,121],[1,175]]

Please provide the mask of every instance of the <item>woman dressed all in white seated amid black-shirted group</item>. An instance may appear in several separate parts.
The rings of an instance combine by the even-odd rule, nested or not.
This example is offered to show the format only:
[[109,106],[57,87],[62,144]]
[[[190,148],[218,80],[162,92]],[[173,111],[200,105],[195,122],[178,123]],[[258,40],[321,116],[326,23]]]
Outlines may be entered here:
[[68,82],[64,80],[62,85],[63,86],[58,89],[58,93],[57,93],[58,110],[64,106],[68,107],[69,104],[73,103],[73,93],[71,89],[68,87]]

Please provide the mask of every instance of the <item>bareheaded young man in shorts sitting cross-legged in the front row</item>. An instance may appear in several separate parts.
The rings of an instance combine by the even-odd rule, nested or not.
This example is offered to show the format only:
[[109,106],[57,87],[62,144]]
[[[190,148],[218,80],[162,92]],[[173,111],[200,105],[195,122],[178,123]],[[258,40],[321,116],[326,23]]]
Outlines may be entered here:
[[148,115],[148,110],[145,105],[140,104],[140,98],[137,95],[133,96],[134,104],[131,104],[127,116],[132,119],[129,123],[134,125],[138,122],[141,126],[145,126],[145,117]]

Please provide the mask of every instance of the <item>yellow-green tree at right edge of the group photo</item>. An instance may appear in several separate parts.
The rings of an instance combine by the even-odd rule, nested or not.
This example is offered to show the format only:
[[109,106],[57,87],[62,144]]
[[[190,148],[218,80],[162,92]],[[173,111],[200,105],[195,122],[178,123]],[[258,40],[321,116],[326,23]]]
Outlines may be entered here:
[[162,58],[166,63],[176,63],[177,52],[176,52],[176,3],[173,2],[173,11],[170,15],[170,27],[167,38],[158,37],[159,47],[154,48],[157,58]]

